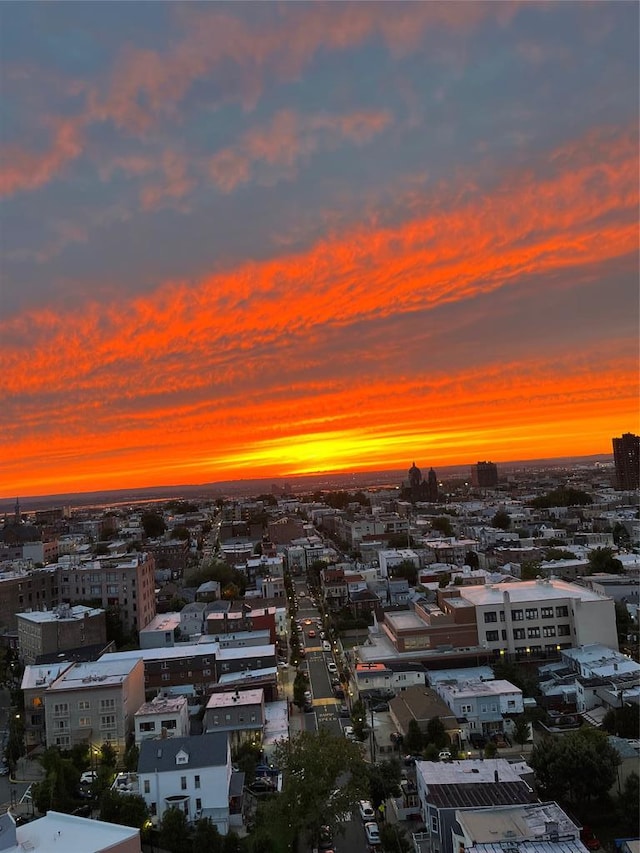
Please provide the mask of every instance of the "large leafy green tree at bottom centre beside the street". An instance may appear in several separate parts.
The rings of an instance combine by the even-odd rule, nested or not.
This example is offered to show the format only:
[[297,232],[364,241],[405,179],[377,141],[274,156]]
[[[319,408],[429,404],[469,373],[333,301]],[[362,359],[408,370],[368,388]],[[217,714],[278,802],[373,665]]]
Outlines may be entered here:
[[275,764],[282,770],[284,783],[282,793],[268,807],[272,837],[283,850],[295,849],[298,836],[313,846],[320,827],[335,830],[340,817],[366,793],[366,765],[359,744],[326,728],[280,741]]

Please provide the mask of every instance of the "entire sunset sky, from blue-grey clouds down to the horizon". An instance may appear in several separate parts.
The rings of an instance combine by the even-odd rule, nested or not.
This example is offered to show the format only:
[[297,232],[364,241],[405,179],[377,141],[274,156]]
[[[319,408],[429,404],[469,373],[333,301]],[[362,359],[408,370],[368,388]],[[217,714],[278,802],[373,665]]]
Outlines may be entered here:
[[0,5],[0,497],[639,432],[633,2]]

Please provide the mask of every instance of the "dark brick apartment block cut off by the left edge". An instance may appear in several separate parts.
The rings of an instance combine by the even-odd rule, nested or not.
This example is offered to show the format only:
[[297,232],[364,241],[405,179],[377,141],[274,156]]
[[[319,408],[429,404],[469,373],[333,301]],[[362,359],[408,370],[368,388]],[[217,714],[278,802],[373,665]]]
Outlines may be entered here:
[[0,632],[15,631],[16,614],[25,610],[51,610],[60,604],[55,567],[32,571],[18,569],[0,574]]

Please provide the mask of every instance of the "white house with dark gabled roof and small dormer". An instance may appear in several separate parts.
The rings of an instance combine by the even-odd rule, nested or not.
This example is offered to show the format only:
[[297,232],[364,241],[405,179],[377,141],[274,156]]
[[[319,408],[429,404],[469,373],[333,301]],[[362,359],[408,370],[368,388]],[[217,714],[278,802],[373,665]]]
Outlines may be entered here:
[[226,835],[231,776],[226,732],[144,740],[140,744],[139,792],[154,822],[159,822],[167,809],[178,808],[190,822],[209,818]]

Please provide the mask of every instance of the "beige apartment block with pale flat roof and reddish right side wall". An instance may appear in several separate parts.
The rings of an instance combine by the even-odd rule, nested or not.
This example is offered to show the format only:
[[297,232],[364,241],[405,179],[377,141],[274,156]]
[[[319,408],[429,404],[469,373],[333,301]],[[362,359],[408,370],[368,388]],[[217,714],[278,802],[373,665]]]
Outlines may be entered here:
[[43,693],[47,746],[110,743],[123,752],[144,702],[144,664],[105,660],[72,664]]

